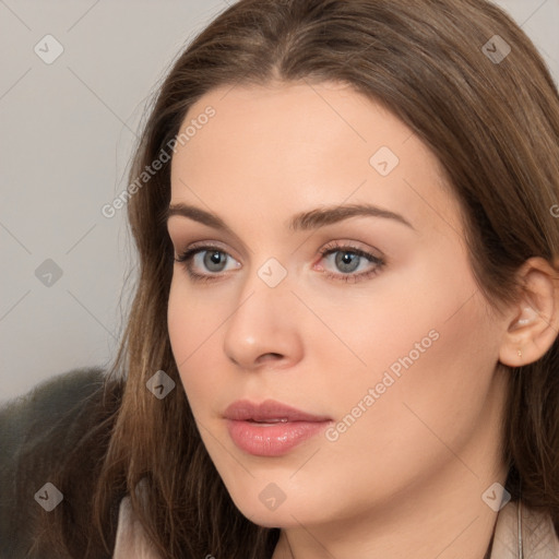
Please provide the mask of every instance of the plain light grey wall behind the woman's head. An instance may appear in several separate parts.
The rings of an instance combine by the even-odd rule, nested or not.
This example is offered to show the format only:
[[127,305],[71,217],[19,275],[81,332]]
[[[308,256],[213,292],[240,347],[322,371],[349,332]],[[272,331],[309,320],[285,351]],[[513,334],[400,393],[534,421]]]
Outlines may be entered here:
[[[559,0],[496,3],[558,82]],[[127,187],[146,100],[225,8],[224,0],[0,0],[0,400],[111,361],[135,257],[126,212],[109,219],[100,209]],[[41,40],[49,34],[63,52],[47,64],[34,48],[52,56],[52,39]]]

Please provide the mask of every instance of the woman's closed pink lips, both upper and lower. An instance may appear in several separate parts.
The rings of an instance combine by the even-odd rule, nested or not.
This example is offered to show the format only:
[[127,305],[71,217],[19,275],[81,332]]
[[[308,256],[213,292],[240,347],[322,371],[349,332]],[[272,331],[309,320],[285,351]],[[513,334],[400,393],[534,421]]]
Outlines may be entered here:
[[233,442],[248,454],[281,456],[324,430],[330,417],[313,415],[274,400],[233,403],[224,413]]

